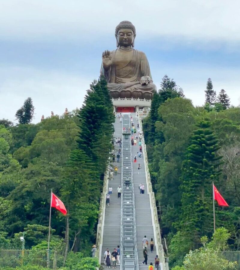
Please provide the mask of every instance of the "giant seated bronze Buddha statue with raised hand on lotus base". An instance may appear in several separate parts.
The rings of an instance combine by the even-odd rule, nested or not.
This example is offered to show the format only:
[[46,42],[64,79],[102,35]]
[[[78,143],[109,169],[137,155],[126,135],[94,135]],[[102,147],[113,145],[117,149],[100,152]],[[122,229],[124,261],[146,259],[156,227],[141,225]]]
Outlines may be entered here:
[[146,55],[134,49],[134,25],[122,21],[116,27],[115,37],[117,49],[103,52],[100,72],[108,82],[111,97],[152,99],[157,87],[153,84]]

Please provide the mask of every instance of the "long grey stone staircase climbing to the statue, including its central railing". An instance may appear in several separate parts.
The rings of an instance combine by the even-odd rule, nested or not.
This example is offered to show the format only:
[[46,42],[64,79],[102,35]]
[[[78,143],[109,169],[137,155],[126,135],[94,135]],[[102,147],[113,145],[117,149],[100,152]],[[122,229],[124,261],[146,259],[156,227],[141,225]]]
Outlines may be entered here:
[[[124,124],[120,124],[119,118],[116,118],[114,123],[114,137],[122,138],[122,156],[120,162],[110,165],[118,166],[118,174],[113,176],[111,181],[106,173],[104,177],[104,188],[101,198],[100,218],[97,234],[97,248],[99,248],[99,262],[104,268],[104,252],[109,248],[110,252],[119,245],[121,247],[121,262],[117,265],[120,270],[145,270],[148,269],[152,262],[155,267],[155,256],[160,258],[159,269],[168,270],[168,264],[165,263],[164,251],[161,244],[161,234],[158,224],[157,210],[155,206],[155,197],[152,192],[152,184],[148,169],[146,146],[143,143],[142,158],[138,157],[139,139],[136,146],[131,146],[131,136],[122,136],[122,128],[126,126],[129,120],[129,114],[123,114]],[[137,128],[138,119],[133,117],[135,127]],[[140,129],[142,125],[140,123]],[[136,133],[134,134],[134,138]],[[115,155],[119,149],[119,145],[114,143]],[[128,149],[129,146],[129,149]],[[130,150],[130,152],[129,152]],[[137,162],[134,162],[134,155],[137,155]],[[128,162],[128,158],[131,162]],[[145,160],[146,159],[146,160]],[[117,160],[117,159],[116,159]],[[141,165],[141,173],[138,174],[138,164]],[[130,177],[128,176],[130,175]],[[129,181],[129,187],[126,187],[126,179]],[[139,185],[143,183],[145,193],[140,194]],[[122,198],[118,199],[117,188],[122,186]],[[113,188],[113,194],[110,198],[110,206],[107,206],[105,201],[109,187]],[[132,186],[132,187],[131,187]],[[142,239],[146,235],[149,240],[148,246],[148,262],[143,265],[143,242]],[[154,249],[150,252],[150,240],[153,238]],[[111,263],[112,268],[112,263]]]

